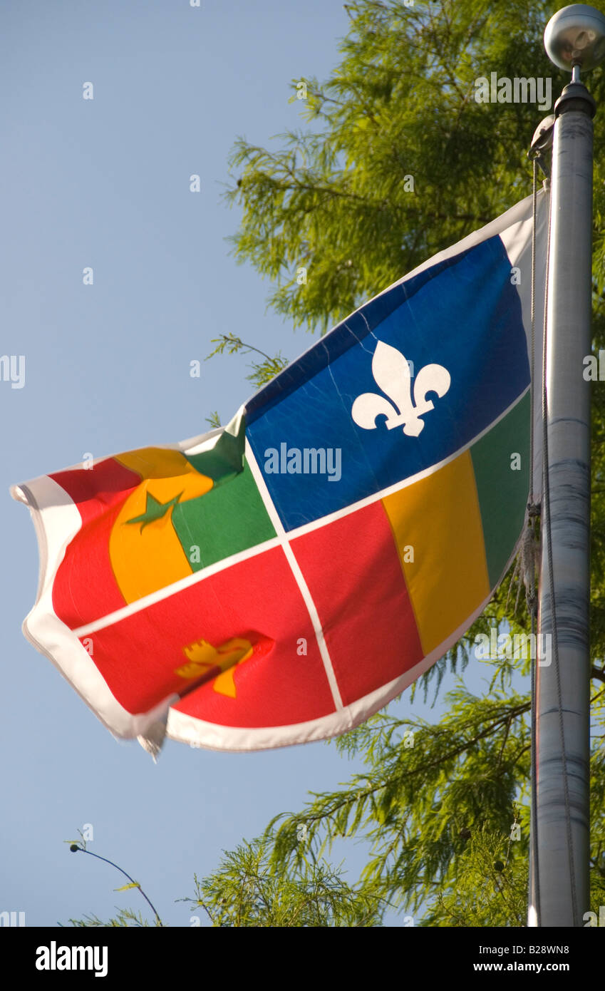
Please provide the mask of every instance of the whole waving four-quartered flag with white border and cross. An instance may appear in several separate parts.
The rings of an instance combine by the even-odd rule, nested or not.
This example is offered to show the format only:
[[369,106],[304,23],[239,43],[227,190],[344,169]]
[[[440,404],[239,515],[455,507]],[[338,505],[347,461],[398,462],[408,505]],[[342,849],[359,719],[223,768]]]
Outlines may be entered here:
[[[538,328],[545,214],[541,193]],[[459,639],[517,549],[532,470],[540,488],[531,232],[528,198],[224,429],[13,488],[41,554],[24,632],[114,734],[153,753],[164,733],[226,750],[334,736]]]

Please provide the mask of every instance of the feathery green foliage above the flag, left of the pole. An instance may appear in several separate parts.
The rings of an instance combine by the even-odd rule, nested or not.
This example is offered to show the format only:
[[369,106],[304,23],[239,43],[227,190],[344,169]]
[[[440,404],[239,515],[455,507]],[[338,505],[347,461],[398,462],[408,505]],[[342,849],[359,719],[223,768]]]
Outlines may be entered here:
[[235,256],[276,282],[277,312],[326,330],[531,191],[526,151],[546,111],[477,103],[474,80],[555,75],[556,89],[542,44],[555,7],[349,6],[340,64],[296,101],[306,129],[279,135],[276,150],[240,139],[231,157]]

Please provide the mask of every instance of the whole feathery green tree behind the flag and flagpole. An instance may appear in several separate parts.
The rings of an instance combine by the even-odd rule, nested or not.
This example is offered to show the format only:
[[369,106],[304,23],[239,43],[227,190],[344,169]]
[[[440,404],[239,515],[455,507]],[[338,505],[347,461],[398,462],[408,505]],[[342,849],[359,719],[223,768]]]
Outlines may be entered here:
[[[231,159],[226,195],[243,211],[233,238],[236,258],[272,280],[274,309],[294,326],[325,331],[531,191],[526,152],[551,108],[477,102],[475,80],[492,72],[552,78],[556,96],[567,79],[554,71],[542,36],[557,6],[544,0],[530,7],[519,0],[346,5],[350,29],[331,77],[323,84],[293,81],[292,101],[306,128],[282,135],[272,151],[240,139]],[[602,74],[591,77],[590,88],[602,102]],[[597,116],[595,351],[605,347],[602,128]],[[246,347],[233,337],[216,343],[231,351]],[[252,371],[257,384],[283,361],[263,357],[265,364]],[[593,400],[591,907],[598,911],[605,900],[605,397],[598,384]],[[424,677],[425,692],[439,692],[448,671],[461,674],[470,660],[477,663],[477,633],[503,622],[512,632],[529,631],[524,599],[514,606],[517,581],[511,571],[466,636]],[[334,741],[343,754],[362,755],[365,770],[334,793],[312,796],[302,811],[278,817],[262,839],[228,854],[210,878],[196,882],[197,901],[210,913],[225,900],[228,915],[213,915],[213,924],[228,918],[227,925],[244,926],[276,919],[378,925],[388,903],[422,911],[422,925],[524,925],[530,661],[503,656],[491,664],[489,691],[478,697],[459,681],[437,724],[386,712]],[[512,687],[520,676],[522,693]],[[372,843],[359,884],[340,888],[339,881],[329,909],[311,906],[297,917],[301,897],[316,884],[325,890],[330,868],[322,855],[342,835]],[[251,857],[260,858],[264,901],[242,908],[238,892],[250,879]]]

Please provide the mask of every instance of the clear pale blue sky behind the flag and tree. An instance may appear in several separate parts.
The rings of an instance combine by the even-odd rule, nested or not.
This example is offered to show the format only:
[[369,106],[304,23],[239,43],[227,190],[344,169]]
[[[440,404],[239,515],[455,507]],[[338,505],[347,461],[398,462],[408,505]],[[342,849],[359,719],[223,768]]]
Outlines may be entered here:
[[[0,382],[0,911],[51,927],[139,908],[136,893],[114,893],[122,882],[107,865],[67,852],[62,841],[89,823],[90,849],[140,880],[165,922],[187,926],[175,899],[192,894],[194,871],[359,764],[323,743],[224,754],[168,742],[153,765],[138,743],[117,742],[22,636],[38,550],[8,488],[86,452],[202,433],[215,409],[227,422],[252,391],[249,359],[188,374],[219,333],[291,358],[309,346],[265,311],[268,283],[230,256],[239,213],[221,192],[239,135],[266,145],[302,126],[290,80],[330,72],[348,17],[337,0],[5,0],[0,22],[0,353],[26,360],[23,388]],[[348,864],[353,880],[360,851]]]

